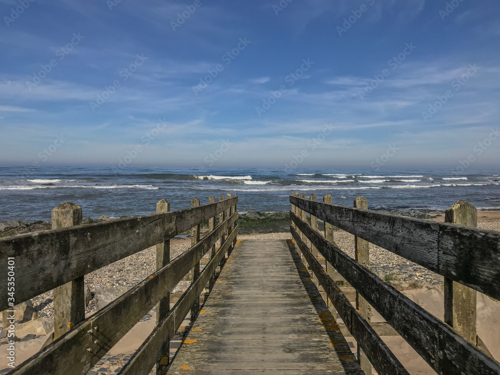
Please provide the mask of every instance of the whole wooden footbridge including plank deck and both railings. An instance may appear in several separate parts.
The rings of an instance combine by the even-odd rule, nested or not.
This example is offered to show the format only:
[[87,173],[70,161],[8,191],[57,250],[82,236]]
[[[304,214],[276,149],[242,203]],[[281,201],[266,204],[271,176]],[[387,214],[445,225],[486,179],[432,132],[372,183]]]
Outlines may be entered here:
[[[52,230],[0,239],[4,269],[15,263],[16,303],[54,295],[52,337],[10,373],[85,374],[156,305],[156,326],[120,374],[408,374],[378,333],[401,335],[439,374],[500,374],[475,327],[476,291],[500,299],[500,233],[475,228],[475,208],[459,201],[437,223],[368,211],[363,197],[353,208],[323,200],[292,192],[293,241],[237,240],[230,194],[179,211],[160,200],[155,214],[90,225],[81,225],[80,207],[62,203]],[[336,246],[333,226],[355,236],[355,259]],[[190,228],[192,246],[170,259],[169,240]],[[445,322],[369,271],[368,242],[445,277]],[[83,276],[153,245],[157,270],[85,318]],[[170,292],[187,274],[172,307]],[[355,288],[355,305],[339,279]],[[0,289],[9,282],[2,276]],[[0,293],[1,310],[9,301]],[[370,322],[372,308],[386,323]],[[186,316],[188,333],[171,356]]]

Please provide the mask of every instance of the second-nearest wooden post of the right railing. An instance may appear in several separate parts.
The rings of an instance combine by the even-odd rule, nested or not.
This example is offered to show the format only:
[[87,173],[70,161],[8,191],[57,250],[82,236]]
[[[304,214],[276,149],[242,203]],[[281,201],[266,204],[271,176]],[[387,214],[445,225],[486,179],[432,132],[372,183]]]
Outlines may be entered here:
[[[364,196],[359,195],[356,199],[354,199],[354,207],[361,209],[368,209],[368,201]],[[358,263],[360,263],[363,267],[369,268],[370,264],[370,250],[369,250],[369,242],[354,236],[354,254],[355,259]],[[359,294],[356,290],[356,309],[359,311],[359,314],[367,321],[371,320],[371,306],[366,302],[366,300]],[[357,361],[361,366],[361,369],[366,375],[371,375],[371,363],[366,357],[366,354],[361,350],[359,345],[357,345]]]

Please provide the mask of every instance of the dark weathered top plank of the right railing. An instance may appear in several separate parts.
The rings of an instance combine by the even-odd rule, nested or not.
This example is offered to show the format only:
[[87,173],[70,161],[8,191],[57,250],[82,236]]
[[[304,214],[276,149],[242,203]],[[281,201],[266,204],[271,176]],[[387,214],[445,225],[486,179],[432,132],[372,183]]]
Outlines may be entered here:
[[290,202],[435,273],[500,299],[500,232],[293,196]]

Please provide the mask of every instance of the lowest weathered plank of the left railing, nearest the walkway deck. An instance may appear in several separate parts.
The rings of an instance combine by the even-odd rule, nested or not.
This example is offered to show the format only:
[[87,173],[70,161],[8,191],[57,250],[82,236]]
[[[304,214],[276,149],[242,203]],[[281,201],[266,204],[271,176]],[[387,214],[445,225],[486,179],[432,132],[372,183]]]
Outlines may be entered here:
[[[227,229],[227,226],[225,226]],[[121,368],[119,374],[148,374],[155,363],[156,358],[161,354],[159,344],[163,339],[171,339],[184,317],[189,312],[193,301],[199,297],[199,293],[210,279],[215,268],[220,263],[220,259],[232,243],[232,239],[236,237],[237,226],[227,237],[227,241],[220,246],[215,256],[210,259],[206,267],[203,269],[199,277],[189,286],[184,292],[182,298],[175,304],[167,316],[153,329],[151,334],[139,346],[137,351],[132,355],[130,360]],[[160,359],[161,360],[161,359]]]

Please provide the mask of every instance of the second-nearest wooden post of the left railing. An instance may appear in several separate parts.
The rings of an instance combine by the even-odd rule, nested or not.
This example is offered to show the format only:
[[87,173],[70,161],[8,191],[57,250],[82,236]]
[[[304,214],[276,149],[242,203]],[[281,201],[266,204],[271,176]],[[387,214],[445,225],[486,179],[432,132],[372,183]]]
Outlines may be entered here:
[[[161,199],[156,203],[156,213],[170,211],[170,203]],[[156,245],[156,269],[160,269],[170,261],[170,240],[160,242]],[[166,293],[156,305],[156,325],[170,311],[170,292]],[[156,361],[156,374],[164,375],[170,361],[170,341],[165,340],[161,345],[161,354]]]

